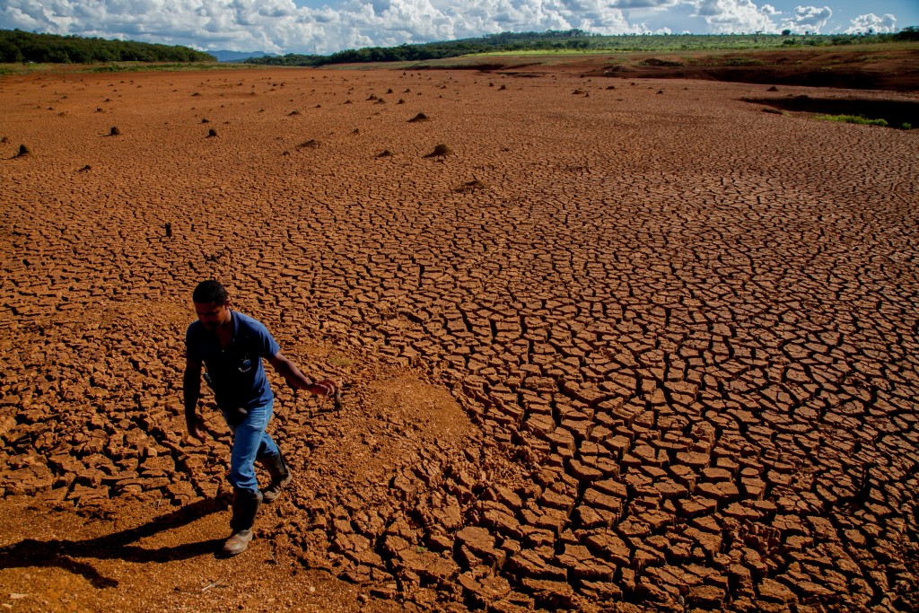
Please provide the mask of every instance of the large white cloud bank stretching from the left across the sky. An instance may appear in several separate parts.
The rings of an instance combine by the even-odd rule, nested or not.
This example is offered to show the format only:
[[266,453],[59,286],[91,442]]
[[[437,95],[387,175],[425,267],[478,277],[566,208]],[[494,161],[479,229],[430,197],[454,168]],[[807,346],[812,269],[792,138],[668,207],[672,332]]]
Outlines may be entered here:
[[[652,2],[652,0],[626,0]],[[659,0],[666,6],[676,0]],[[652,3],[653,4],[653,3]],[[0,28],[130,38],[205,50],[327,53],[500,31],[645,31],[607,0],[6,0]]]

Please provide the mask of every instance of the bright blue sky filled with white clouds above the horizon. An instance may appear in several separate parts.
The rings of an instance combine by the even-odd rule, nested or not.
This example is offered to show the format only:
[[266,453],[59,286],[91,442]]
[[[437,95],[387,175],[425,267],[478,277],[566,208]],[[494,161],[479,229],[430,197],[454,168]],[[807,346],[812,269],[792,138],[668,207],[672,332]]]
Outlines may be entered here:
[[179,44],[204,51],[331,53],[502,31],[898,31],[919,0],[4,0],[0,28]]

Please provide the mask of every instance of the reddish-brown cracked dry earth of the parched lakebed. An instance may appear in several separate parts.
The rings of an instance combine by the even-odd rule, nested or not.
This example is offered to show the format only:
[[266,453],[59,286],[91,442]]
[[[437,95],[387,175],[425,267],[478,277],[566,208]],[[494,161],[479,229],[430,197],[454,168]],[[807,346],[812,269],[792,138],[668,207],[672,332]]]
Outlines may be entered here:
[[[765,93],[5,78],[0,603],[914,610],[919,132]],[[232,560],[181,409],[210,277],[345,387],[271,373],[296,477]]]

